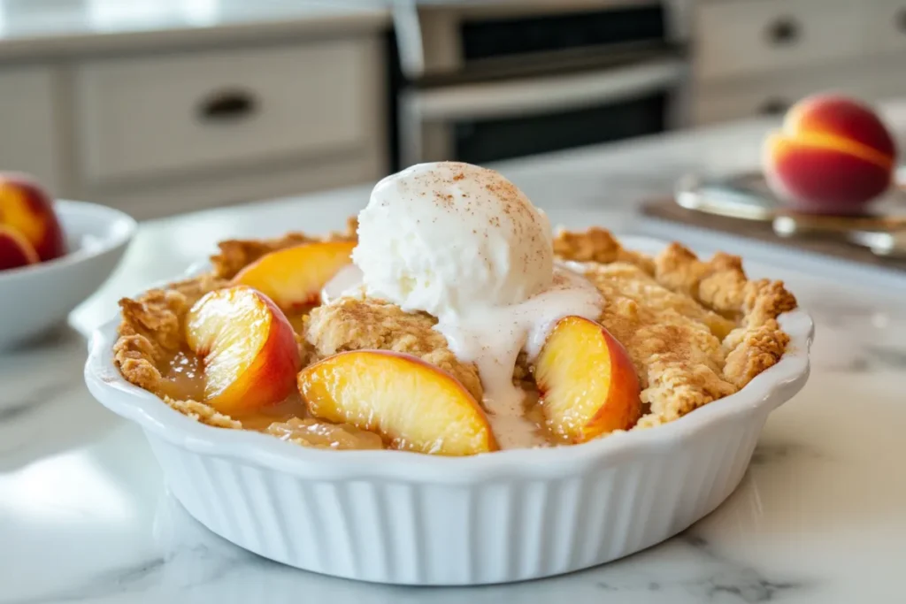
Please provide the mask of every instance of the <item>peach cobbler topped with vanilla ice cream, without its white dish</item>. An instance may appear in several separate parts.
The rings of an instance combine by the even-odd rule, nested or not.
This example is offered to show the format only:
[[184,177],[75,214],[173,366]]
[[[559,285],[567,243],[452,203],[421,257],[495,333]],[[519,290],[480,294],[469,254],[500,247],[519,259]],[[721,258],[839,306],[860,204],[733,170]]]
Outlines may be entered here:
[[727,397],[783,356],[783,283],[679,244],[554,235],[493,170],[387,177],[346,232],[224,241],[120,301],[132,384],[301,446],[473,455],[584,443]]

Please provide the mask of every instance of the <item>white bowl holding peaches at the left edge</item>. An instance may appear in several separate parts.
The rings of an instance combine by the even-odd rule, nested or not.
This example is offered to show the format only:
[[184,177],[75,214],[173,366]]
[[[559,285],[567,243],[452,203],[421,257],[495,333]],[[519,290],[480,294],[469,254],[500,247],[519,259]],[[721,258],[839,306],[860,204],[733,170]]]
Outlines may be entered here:
[[79,201],[53,205],[68,254],[42,264],[0,272],[0,349],[65,321],[120,262],[135,220],[106,206]]

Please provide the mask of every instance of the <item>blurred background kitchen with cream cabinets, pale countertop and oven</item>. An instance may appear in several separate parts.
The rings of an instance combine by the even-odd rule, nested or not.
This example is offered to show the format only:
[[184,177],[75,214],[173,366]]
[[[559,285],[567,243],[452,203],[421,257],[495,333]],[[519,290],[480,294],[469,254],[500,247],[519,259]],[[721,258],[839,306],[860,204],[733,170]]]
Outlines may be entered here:
[[2,0],[0,166],[143,219],[904,76],[906,0]]

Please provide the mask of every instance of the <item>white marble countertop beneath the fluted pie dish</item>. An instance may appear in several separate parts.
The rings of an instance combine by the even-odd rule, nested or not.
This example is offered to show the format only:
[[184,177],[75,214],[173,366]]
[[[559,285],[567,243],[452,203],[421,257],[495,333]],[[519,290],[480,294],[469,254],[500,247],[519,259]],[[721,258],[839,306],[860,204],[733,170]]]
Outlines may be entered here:
[[[633,215],[633,202],[668,192],[688,169],[750,167],[765,128],[751,123],[502,168],[556,223],[662,233]],[[180,272],[218,238],[338,226],[366,195],[356,188],[143,225],[120,271],[72,323],[87,329],[118,296]],[[693,232],[671,235],[750,259],[780,257]],[[375,586],[240,551],[188,517],[140,432],[90,398],[77,332],[0,356],[0,602],[902,601],[906,278],[792,256],[780,264],[748,266],[785,278],[814,313],[814,370],[770,418],[737,492],[670,542],[513,586]]]

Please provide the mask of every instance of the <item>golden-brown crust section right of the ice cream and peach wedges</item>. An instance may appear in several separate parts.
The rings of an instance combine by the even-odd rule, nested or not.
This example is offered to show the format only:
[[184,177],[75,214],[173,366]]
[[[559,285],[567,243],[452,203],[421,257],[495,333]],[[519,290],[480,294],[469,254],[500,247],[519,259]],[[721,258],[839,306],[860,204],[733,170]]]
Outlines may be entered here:
[[[604,264],[586,276],[607,298],[602,324],[639,370],[642,400],[651,410],[637,428],[658,426],[744,388],[775,365],[789,343],[776,319],[795,309],[795,297],[783,282],[748,281],[738,256],[718,253],[705,262],[670,244],[651,262],[633,262],[599,228],[560,234],[554,250],[564,260]],[[698,302],[699,310],[681,300]],[[710,333],[696,330],[694,322]]]

